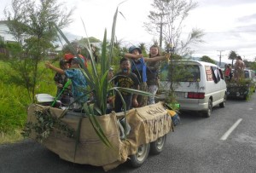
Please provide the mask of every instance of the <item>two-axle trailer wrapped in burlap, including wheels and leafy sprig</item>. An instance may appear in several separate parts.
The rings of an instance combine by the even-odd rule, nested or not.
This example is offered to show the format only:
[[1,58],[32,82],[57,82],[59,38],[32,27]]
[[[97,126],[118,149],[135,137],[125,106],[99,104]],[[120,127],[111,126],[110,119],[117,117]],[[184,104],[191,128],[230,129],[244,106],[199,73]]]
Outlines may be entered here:
[[[134,108],[126,114],[111,112],[96,116],[110,146],[96,134],[90,118],[84,113],[32,104],[27,115],[27,136],[41,142],[61,159],[102,166],[106,171],[125,161],[139,167],[148,153],[162,152],[166,135],[173,130],[172,118],[162,102]],[[131,130],[122,139],[118,119],[124,116]]]

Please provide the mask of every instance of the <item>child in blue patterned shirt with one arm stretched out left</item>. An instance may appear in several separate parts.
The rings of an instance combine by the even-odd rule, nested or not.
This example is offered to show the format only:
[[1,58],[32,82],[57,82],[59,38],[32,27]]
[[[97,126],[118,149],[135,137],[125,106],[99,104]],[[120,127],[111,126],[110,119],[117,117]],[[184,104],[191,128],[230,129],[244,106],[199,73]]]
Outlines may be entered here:
[[[61,68],[55,67],[48,62],[45,63],[45,66],[54,70],[55,72],[65,74],[67,78],[72,80],[72,95],[74,100],[79,99],[74,104],[75,111],[81,111],[83,103],[88,100],[87,96],[84,95],[86,89],[86,79],[84,78],[83,72],[79,69],[79,58],[73,58],[71,60],[71,67],[67,70],[62,70]],[[84,96],[83,96],[84,95]]]

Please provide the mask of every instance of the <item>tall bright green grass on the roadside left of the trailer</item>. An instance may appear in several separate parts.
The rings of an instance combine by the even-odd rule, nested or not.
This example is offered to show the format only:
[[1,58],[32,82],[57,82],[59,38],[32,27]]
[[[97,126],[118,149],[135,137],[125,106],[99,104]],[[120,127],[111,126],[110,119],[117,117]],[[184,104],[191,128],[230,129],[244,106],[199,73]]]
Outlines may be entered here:
[[[26,89],[11,81],[9,73],[16,74],[8,63],[0,61],[0,144],[20,141],[20,135],[26,124],[26,108],[32,103]],[[39,66],[36,94],[48,93],[55,96],[56,86],[53,80],[55,72],[45,70],[44,62]]]

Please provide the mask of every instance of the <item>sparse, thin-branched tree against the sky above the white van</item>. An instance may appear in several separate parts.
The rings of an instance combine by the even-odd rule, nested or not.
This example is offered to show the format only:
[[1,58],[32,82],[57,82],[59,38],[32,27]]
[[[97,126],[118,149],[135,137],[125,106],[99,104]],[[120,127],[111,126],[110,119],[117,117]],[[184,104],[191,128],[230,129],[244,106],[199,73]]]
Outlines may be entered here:
[[[160,47],[163,39],[166,47],[174,47],[179,55],[190,55],[193,51],[189,48],[192,43],[201,43],[204,35],[199,29],[192,29],[185,41],[181,39],[183,21],[188,17],[189,11],[195,9],[197,3],[192,0],[154,0],[154,11],[149,11],[148,22],[144,27],[150,34],[160,33]],[[168,49],[168,48],[167,48]]]

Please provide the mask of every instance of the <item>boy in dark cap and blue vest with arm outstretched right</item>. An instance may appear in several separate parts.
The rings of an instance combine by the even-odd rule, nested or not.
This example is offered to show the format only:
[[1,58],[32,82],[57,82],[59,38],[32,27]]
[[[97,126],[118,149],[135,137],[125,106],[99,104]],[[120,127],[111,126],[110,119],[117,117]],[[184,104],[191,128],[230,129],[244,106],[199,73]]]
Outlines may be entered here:
[[[137,75],[140,82],[140,90],[148,91],[146,62],[168,60],[170,55],[146,58],[143,57],[142,50],[140,48],[131,46],[129,48],[129,54],[125,54],[125,57],[131,59],[131,72],[134,72]],[[144,107],[147,105],[148,97],[138,95],[137,101],[138,107]]]

